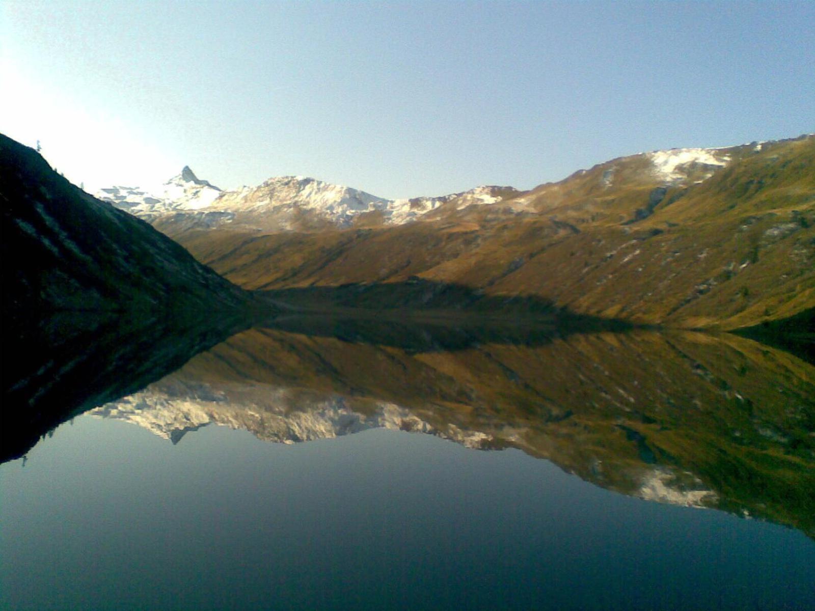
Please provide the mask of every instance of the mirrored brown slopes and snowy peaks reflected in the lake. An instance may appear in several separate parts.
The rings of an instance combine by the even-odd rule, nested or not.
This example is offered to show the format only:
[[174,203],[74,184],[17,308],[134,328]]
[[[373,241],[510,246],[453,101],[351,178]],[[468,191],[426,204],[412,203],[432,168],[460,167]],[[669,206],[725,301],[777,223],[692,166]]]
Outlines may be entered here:
[[516,447],[626,495],[815,535],[815,367],[786,352],[730,335],[496,321],[275,326],[92,413],[173,442],[222,424],[284,443],[385,428]]

